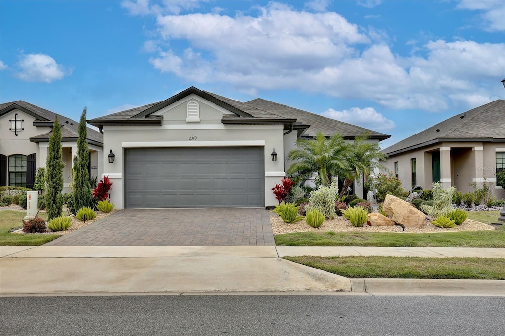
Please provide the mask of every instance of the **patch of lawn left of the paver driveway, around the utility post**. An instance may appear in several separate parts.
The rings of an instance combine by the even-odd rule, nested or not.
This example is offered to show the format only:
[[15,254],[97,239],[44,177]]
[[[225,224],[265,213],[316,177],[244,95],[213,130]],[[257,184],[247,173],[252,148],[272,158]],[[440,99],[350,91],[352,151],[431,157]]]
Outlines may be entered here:
[[[0,211],[0,245],[39,246],[60,237],[60,235],[11,233],[11,229],[23,227],[23,218],[25,215],[26,212],[24,211]],[[41,212],[39,215],[47,220],[45,212]]]

